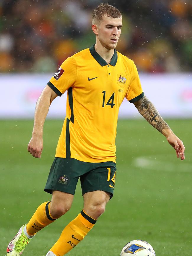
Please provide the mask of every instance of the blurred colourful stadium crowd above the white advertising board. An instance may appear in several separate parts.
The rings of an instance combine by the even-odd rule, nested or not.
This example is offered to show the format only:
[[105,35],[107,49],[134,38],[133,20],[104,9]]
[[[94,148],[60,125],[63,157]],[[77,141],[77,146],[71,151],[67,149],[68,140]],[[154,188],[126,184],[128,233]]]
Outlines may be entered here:
[[[95,42],[99,0],[0,2],[0,73],[52,72]],[[123,28],[117,50],[143,72],[192,71],[191,0],[112,0]]]

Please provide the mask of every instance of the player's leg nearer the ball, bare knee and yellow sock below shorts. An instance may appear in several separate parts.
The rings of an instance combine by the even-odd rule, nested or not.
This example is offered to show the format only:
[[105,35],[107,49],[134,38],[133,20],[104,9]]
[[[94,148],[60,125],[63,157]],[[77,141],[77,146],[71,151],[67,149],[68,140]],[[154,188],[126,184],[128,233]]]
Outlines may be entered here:
[[79,244],[105,211],[110,195],[104,191],[93,191],[84,194],[83,198],[83,210],[64,228],[60,238],[46,256],[63,256]]

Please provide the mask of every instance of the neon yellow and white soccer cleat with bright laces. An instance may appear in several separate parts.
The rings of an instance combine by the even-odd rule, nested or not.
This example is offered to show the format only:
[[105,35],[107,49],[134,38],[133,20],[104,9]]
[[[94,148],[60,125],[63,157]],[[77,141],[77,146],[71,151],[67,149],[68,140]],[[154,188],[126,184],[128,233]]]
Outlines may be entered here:
[[13,240],[9,243],[7,247],[7,256],[19,256],[22,255],[27,244],[31,241],[31,238],[28,238],[24,232],[23,228],[27,224],[23,225],[17,235],[13,238]]

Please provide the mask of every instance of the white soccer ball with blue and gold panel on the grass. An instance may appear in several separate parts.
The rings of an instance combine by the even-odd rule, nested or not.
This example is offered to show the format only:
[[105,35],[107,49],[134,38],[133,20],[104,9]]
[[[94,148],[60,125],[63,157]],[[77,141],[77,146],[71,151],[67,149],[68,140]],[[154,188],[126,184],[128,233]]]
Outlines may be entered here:
[[143,240],[133,240],[126,244],[120,256],[155,256],[153,247]]

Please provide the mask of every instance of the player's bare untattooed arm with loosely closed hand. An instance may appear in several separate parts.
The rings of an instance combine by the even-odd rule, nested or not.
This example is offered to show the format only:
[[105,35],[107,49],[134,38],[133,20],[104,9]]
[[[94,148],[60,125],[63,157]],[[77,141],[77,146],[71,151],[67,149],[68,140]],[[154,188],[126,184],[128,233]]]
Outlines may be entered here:
[[43,150],[43,125],[49,111],[49,106],[57,96],[58,95],[46,85],[37,100],[32,138],[28,144],[28,151],[36,158],[41,158]]

